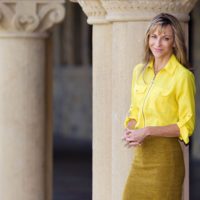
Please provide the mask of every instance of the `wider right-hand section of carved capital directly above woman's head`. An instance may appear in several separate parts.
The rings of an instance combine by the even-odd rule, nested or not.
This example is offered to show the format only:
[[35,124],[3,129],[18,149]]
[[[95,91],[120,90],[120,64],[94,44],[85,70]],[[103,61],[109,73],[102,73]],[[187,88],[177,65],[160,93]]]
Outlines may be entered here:
[[189,20],[189,12],[197,0],[101,0],[110,21],[148,21],[167,12],[181,21]]

